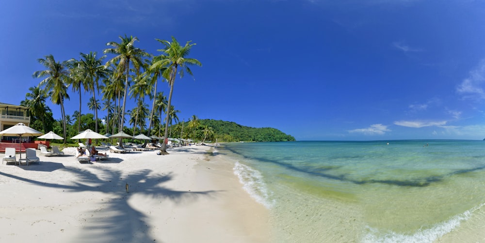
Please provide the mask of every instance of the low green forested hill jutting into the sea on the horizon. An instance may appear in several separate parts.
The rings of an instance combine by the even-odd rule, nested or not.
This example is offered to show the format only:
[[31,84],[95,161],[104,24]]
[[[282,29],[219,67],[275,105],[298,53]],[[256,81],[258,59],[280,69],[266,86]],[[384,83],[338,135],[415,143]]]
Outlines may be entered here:
[[[200,125],[210,127],[219,142],[279,142],[295,141],[291,135],[287,135],[278,129],[271,127],[248,127],[232,121],[201,119]],[[198,136],[196,136],[198,137]],[[202,135],[200,137],[203,137]]]

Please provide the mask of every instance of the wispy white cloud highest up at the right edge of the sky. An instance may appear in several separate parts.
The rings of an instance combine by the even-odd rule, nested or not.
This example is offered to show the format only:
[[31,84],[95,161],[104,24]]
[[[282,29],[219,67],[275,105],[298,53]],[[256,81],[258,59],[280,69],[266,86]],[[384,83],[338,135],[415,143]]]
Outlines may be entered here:
[[479,65],[469,72],[469,76],[461,82],[456,91],[463,95],[463,99],[482,101],[485,99],[485,91],[482,88],[485,80],[485,60],[480,61]]

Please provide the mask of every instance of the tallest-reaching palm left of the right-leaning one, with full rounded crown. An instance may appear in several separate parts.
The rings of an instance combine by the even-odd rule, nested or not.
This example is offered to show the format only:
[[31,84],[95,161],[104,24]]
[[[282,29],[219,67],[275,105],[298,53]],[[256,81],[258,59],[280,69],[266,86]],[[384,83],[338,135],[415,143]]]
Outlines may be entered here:
[[135,67],[136,70],[139,70],[140,66],[142,65],[141,57],[147,56],[148,54],[146,54],[146,52],[144,52],[142,49],[137,48],[133,45],[135,41],[138,41],[138,38],[133,36],[128,37],[127,35],[125,35],[125,37],[119,36],[119,38],[121,39],[120,43],[116,43],[116,42],[107,43],[106,44],[107,46],[113,46],[113,48],[107,48],[103,52],[105,54],[106,53],[115,54],[116,56],[113,57],[109,61],[109,63],[118,64],[116,66],[117,67],[116,73],[118,73],[118,76],[122,76],[123,73],[125,74],[126,89],[125,89],[125,95],[123,96],[123,109],[120,114],[121,115],[120,126],[118,128],[118,131],[121,132],[123,131],[123,123],[124,123],[124,117],[125,117],[130,62],[133,63],[133,66]]

